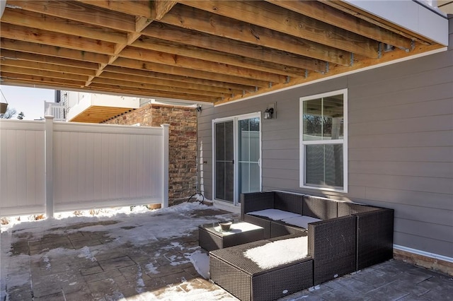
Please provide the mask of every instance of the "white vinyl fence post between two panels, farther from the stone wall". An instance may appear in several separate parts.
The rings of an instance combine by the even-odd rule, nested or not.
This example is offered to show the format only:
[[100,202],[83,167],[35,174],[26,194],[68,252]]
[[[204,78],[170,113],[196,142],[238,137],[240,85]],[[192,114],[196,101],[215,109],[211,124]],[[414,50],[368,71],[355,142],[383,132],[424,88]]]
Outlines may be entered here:
[[54,217],[54,117],[45,116],[45,215]]

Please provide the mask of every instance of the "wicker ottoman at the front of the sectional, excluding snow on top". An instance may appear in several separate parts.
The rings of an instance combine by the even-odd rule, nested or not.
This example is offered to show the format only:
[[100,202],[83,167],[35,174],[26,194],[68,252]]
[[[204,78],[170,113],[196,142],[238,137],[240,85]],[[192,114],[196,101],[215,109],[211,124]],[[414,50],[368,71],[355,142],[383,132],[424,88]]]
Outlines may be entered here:
[[270,242],[260,240],[210,252],[210,277],[240,300],[275,300],[313,286],[313,259],[306,257],[275,268],[260,268],[243,256]]

